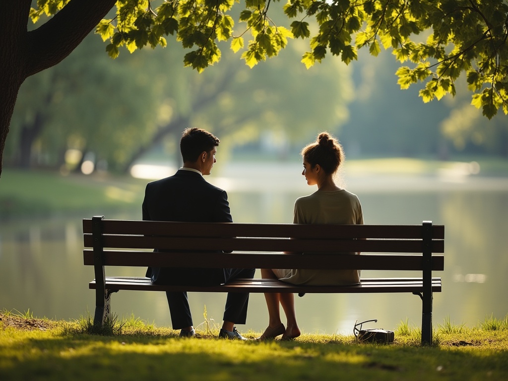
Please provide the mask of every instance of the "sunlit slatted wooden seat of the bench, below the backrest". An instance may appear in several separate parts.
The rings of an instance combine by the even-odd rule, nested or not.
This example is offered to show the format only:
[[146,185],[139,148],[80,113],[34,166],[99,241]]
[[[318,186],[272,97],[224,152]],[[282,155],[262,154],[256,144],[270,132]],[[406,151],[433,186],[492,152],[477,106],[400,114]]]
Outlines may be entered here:
[[[95,281],[89,283],[95,289]],[[362,279],[360,284],[347,286],[305,286],[284,283],[275,279],[241,279],[214,286],[181,286],[153,284],[149,278],[106,277],[108,290],[137,291],[187,291],[187,292],[294,292],[294,293],[381,293],[381,292],[422,292],[423,282],[415,278],[391,278],[380,282],[378,279]],[[432,279],[432,291],[441,291],[440,278]]]

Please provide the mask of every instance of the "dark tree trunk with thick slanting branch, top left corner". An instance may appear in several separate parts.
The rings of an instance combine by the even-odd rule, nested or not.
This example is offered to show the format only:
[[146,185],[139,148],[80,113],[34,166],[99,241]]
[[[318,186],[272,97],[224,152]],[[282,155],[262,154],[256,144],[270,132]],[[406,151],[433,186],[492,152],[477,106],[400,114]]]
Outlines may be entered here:
[[14,104],[23,81],[67,57],[116,0],[71,0],[55,16],[28,31],[31,0],[0,1],[0,176]]

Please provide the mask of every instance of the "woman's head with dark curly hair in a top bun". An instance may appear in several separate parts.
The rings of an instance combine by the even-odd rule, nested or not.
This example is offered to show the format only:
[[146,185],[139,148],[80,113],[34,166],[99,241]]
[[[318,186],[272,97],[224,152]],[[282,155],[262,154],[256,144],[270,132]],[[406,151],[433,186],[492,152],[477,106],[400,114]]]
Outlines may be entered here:
[[317,164],[326,174],[334,174],[344,161],[344,150],[339,141],[327,132],[317,136],[315,142],[302,149],[303,160],[312,167]]

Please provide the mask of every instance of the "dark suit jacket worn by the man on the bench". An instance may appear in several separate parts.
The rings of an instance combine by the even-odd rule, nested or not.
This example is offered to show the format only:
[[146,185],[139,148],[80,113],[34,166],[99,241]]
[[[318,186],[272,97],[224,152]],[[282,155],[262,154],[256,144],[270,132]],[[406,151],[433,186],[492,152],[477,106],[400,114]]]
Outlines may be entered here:
[[[225,190],[199,173],[178,170],[175,175],[146,185],[143,219],[151,221],[232,222]],[[170,249],[170,248],[169,248]],[[160,284],[221,284],[224,269],[148,268],[147,277]]]

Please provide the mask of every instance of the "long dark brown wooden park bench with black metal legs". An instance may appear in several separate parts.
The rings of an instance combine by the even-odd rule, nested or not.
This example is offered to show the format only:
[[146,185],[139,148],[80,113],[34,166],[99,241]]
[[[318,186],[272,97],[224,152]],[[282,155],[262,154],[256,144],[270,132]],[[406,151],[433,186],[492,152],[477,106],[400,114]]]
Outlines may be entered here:
[[[197,233],[199,232],[199,234]],[[110,318],[111,293],[118,290],[187,292],[412,293],[422,299],[422,345],[432,343],[432,294],[441,291],[444,226],[297,225],[181,223],[83,219],[84,264],[93,266],[96,290],[93,324]],[[167,248],[171,252],[153,252]],[[205,250],[219,252],[204,252]],[[233,252],[221,252],[221,251]],[[326,252],[361,251],[361,255]],[[283,251],[312,251],[312,255]],[[317,252],[317,253],[315,253]],[[323,253],[321,253],[323,252]],[[333,261],[331,260],[333,259]],[[152,284],[146,277],[106,276],[111,266],[203,268],[301,268],[417,271],[417,277],[362,278],[347,286],[293,285],[272,279],[238,279],[214,286]],[[142,270],[144,271],[144,270]],[[111,274],[108,274],[111,275]],[[317,311],[319,313],[319,311]]]

